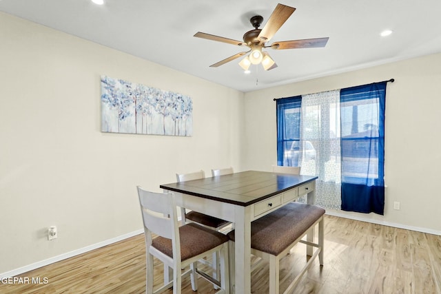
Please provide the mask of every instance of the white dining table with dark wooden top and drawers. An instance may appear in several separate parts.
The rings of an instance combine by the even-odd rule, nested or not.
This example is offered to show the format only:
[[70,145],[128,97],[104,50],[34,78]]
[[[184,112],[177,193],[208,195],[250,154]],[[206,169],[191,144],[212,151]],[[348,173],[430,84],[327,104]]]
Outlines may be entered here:
[[[235,284],[231,293],[251,293],[251,224],[300,196],[316,203],[317,176],[280,174],[268,171],[242,171],[184,182],[160,185],[172,192],[176,204],[209,216],[232,222],[235,231]],[[309,231],[307,240],[314,240]],[[312,248],[307,254],[312,254]]]

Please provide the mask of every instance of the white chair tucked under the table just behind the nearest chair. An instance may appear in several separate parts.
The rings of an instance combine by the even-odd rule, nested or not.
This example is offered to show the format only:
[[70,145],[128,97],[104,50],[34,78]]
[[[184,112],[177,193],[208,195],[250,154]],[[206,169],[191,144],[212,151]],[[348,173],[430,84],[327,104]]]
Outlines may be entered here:
[[[198,180],[202,178],[205,178],[205,173],[202,169],[201,171],[195,171],[189,174],[176,174],[176,180],[178,182],[184,182],[186,180]],[[197,211],[187,211],[185,207],[181,207],[181,221],[183,224],[186,224],[187,222],[196,222],[197,224],[202,224],[203,226],[208,227],[209,229],[214,229],[215,231],[220,231],[230,224],[230,222],[220,218],[215,218],[214,216],[207,216],[206,214]],[[220,264],[218,260],[218,253],[216,252],[214,252],[212,255],[212,262],[208,262],[207,260],[199,260],[200,262],[212,267],[213,277],[215,279],[220,274]]]

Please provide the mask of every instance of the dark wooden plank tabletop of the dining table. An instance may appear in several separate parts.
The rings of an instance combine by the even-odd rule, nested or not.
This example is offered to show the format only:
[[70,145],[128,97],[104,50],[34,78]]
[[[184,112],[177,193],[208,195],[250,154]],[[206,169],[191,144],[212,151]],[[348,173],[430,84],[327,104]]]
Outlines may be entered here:
[[317,178],[317,176],[276,174],[266,171],[243,171],[200,180],[174,182],[159,187],[220,202],[248,206]]

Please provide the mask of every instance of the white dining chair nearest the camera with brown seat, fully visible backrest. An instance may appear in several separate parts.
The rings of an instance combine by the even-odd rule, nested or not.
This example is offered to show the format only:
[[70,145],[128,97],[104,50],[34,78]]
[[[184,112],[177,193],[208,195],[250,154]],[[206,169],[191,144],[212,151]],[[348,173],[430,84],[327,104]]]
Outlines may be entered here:
[[[181,294],[183,275],[190,274],[192,290],[197,291],[200,275],[220,287],[218,293],[229,293],[228,237],[196,223],[179,227],[176,201],[172,193],[154,193],[137,187],[143,216],[146,246],[146,293],[161,293],[173,286],[174,294]],[[156,234],[156,238],[152,234]],[[197,261],[213,253],[220,256],[220,279],[214,279],[197,268]],[[173,280],[164,280],[163,286],[153,289],[154,260],[164,264],[164,270],[173,270]],[[181,269],[190,266],[189,271]]]

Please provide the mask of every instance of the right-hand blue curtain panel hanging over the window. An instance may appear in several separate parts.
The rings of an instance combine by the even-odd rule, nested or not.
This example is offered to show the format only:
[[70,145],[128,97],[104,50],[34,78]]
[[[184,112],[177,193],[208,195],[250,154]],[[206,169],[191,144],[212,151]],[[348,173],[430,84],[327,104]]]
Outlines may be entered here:
[[342,209],[384,213],[386,83],[340,91]]

